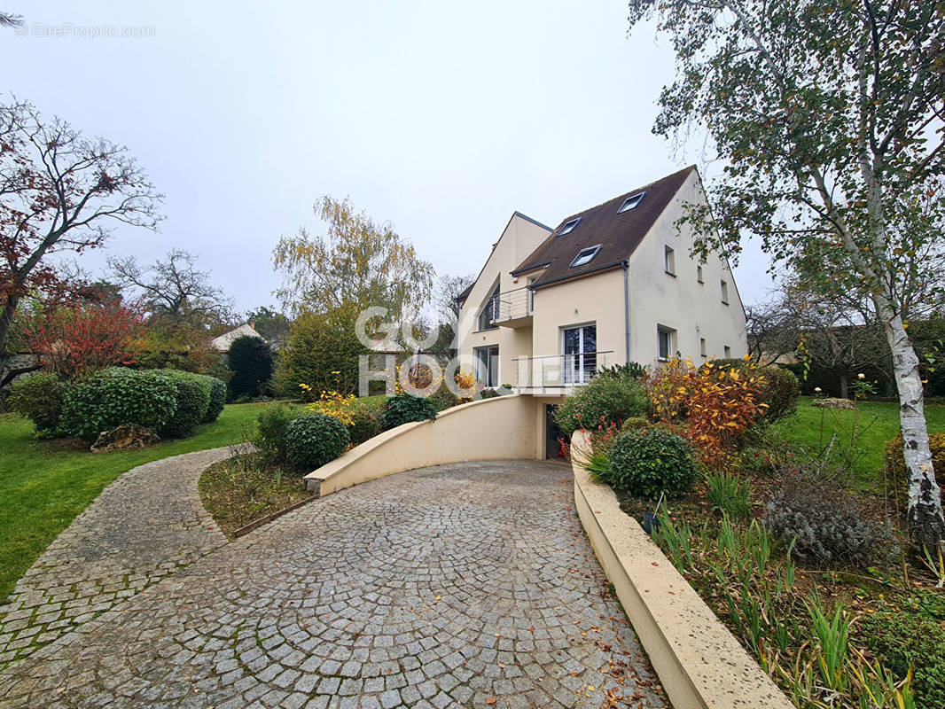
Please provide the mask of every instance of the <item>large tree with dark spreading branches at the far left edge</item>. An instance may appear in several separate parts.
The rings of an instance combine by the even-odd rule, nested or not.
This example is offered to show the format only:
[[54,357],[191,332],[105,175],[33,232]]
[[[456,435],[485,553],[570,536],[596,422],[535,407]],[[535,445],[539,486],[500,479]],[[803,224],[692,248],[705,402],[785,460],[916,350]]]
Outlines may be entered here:
[[161,200],[126,147],[0,105],[0,370],[20,300],[64,280],[50,257],[101,246],[115,222],[156,228]]

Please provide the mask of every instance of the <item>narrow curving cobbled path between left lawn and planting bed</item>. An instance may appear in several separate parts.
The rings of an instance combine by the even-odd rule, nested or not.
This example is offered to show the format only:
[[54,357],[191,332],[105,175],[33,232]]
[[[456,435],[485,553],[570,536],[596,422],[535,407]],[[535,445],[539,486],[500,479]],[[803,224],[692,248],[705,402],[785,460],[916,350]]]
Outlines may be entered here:
[[229,447],[123,473],[17,581],[0,606],[0,667],[227,543],[200,503],[200,473]]

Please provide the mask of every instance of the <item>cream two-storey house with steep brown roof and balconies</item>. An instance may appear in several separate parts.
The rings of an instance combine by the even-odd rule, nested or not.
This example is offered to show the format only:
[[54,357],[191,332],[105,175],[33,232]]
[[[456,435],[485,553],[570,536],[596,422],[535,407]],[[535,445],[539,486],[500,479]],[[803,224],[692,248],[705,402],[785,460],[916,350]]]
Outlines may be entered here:
[[513,214],[457,298],[464,367],[486,387],[507,384],[551,406],[603,367],[746,355],[727,259],[700,264],[693,229],[677,224],[687,202],[706,202],[695,166],[555,229]]

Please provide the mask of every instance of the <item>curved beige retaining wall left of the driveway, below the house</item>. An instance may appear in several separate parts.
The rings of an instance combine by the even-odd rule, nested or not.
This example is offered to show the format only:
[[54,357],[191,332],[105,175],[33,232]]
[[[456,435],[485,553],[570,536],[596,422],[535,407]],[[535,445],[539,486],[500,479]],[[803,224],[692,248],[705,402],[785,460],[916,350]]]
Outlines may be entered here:
[[453,406],[435,421],[404,424],[305,476],[319,496],[375,477],[465,460],[535,458],[535,400],[521,394]]

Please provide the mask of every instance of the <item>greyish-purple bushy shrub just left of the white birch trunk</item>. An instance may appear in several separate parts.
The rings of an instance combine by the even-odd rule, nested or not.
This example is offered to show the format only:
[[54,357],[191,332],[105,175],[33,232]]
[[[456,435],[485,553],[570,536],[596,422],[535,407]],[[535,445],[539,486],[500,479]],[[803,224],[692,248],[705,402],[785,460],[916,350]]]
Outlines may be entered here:
[[865,520],[859,503],[842,486],[800,470],[765,505],[765,527],[795,551],[821,562],[868,566],[888,534]]

